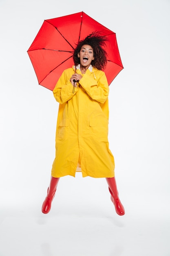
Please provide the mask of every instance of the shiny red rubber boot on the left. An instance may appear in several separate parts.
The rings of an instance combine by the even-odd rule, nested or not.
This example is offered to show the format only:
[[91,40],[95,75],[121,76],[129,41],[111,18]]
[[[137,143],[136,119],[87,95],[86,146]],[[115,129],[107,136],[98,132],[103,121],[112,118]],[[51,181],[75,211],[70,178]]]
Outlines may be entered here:
[[42,204],[42,213],[46,214],[46,213],[49,213],[49,211],[51,210],[51,203],[55,196],[55,191],[57,189],[57,184],[59,182],[59,179],[60,178],[54,178],[51,176],[51,182],[47,190],[47,196]]

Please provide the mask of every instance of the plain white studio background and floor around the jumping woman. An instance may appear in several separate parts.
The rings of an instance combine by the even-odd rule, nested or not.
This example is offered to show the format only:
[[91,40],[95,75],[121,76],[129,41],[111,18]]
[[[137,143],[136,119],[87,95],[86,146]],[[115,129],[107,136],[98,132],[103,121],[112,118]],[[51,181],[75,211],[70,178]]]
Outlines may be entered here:
[[[80,11],[116,32],[124,65],[109,95],[124,216],[81,173],[41,213],[58,103],[26,51],[45,19]],[[0,0],[0,256],[170,256],[169,13],[169,0]]]

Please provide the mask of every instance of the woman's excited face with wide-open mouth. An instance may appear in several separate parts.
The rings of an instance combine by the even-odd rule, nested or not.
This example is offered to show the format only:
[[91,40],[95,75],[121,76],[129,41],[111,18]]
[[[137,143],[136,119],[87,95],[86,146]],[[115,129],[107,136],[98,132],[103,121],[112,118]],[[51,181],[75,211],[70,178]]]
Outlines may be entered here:
[[78,57],[80,58],[80,65],[88,68],[94,60],[92,47],[90,45],[83,45],[78,53]]

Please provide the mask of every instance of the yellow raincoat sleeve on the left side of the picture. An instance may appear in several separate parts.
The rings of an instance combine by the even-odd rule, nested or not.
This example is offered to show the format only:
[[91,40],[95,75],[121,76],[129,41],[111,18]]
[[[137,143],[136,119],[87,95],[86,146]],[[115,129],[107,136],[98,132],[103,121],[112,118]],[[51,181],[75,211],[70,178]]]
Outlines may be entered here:
[[75,87],[75,92],[73,93],[73,85],[70,81],[70,77],[71,74],[69,74],[69,72],[64,71],[53,90],[54,97],[56,101],[60,104],[63,104],[64,102],[71,99],[78,90]]

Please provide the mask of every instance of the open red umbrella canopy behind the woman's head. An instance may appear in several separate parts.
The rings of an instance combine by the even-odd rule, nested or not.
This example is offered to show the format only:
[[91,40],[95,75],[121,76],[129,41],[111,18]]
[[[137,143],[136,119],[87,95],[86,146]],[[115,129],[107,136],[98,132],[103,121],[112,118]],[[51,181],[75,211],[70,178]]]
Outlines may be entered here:
[[38,83],[53,90],[62,72],[74,65],[76,44],[92,32],[106,36],[107,66],[104,70],[108,84],[123,69],[116,34],[83,11],[44,20],[37,36],[28,49]]

